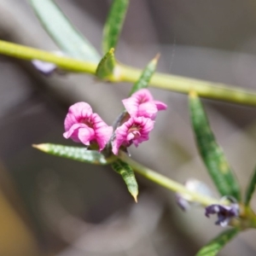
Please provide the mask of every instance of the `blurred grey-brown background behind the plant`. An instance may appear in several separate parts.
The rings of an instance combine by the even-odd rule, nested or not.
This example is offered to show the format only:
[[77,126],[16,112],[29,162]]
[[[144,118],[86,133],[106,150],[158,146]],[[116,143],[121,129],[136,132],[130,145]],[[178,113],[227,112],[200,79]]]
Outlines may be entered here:
[[[56,3],[100,51],[110,1]],[[0,38],[57,49],[25,0],[0,0]],[[255,90],[255,1],[131,0],[116,50],[119,61],[144,67],[158,52],[160,72]],[[31,63],[5,56],[0,56],[0,84],[1,256],[194,255],[221,230],[203,209],[182,212],[171,191],[143,177],[137,177],[135,204],[109,167],[62,160],[31,147],[71,143],[62,132],[74,102],[89,102],[111,124],[130,84],[99,83],[81,74],[45,78]],[[180,182],[195,177],[212,186],[196,152],[187,96],[151,91],[169,108],[159,114],[150,141],[132,148],[132,157]],[[256,164],[256,109],[204,102],[244,190]],[[219,255],[255,255],[255,238],[249,230]]]

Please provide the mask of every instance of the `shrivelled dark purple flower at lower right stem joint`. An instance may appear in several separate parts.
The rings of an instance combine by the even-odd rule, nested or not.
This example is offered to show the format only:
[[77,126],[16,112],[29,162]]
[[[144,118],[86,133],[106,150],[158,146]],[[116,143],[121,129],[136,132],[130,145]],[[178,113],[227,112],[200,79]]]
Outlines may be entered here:
[[222,227],[227,226],[230,223],[231,218],[239,216],[239,206],[236,203],[232,203],[229,206],[211,205],[206,207],[206,216],[209,218],[210,214],[217,213],[218,220],[215,222]]

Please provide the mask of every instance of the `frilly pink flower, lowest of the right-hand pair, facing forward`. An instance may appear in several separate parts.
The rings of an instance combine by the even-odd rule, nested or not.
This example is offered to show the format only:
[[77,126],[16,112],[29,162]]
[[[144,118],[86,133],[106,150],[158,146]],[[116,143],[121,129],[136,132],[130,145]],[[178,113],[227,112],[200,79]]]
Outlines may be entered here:
[[121,146],[129,147],[134,143],[148,141],[148,133],[154,128],[154,121],[145,117],[131,117],[115,131],[115,138],[112,144],[113,154],[118,154]]

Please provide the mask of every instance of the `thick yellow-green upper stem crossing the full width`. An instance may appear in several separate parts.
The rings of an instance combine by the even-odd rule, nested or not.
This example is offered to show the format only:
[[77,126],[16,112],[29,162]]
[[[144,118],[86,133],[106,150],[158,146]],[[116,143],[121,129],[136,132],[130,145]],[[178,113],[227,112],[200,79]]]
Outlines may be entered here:
[[[48,61],[55,63],[62,69],[77,73],[90,73],[95,75],[96,64],[90,61],[78,61],[50,54],[48,51],[33,49],[19,44],[12,44],[0,40],[0,54],[9,55],[20,59]],[[135,83],[140,77],[142,70],[126,67],[118,64],[113,73],[111,82]],[[188,94],[190,90],[195,90],[198,96],[224,102],[233,102],[247,106],[256,106],[256,92],[241,90],[228,84],[211,83],[199,79],[189,79],[171,74],[154,73],[149,85],[159,89],[173,90]]]

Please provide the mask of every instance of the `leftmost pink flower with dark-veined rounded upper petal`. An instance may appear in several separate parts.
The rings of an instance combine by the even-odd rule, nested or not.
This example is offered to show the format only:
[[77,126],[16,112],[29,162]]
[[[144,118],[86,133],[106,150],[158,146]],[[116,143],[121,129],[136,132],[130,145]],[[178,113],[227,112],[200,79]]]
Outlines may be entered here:
[[99,151],[105,148],[113,132],[113,127],[108,126],[97,113],[93,113],[90,105],[85,102],[75,103],[68,109],[64,126],[64,137],[86,146],[96,142]]

